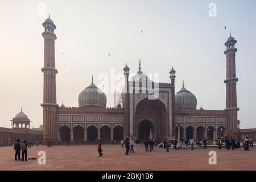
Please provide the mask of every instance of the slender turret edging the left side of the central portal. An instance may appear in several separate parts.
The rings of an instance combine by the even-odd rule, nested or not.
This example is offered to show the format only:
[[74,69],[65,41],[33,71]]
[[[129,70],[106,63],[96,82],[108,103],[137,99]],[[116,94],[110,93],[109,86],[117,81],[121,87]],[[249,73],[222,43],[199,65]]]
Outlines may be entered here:
[[125,137],[130,136],[130,93],[129,93],[129,73],[130,68],[125,65],[123,68],[123,75],[125,76]]

